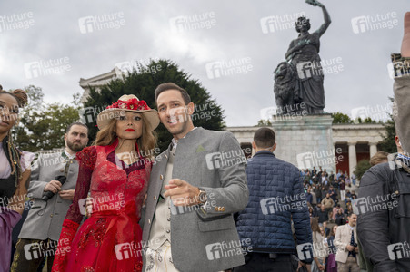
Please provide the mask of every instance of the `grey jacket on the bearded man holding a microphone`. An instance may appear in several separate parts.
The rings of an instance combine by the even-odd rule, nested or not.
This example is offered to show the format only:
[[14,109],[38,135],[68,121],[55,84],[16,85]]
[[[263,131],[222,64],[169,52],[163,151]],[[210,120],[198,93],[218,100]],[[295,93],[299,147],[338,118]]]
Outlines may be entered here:
[[[48,199],[48,203],[41,198],[44,195],[45,185],[55,180],[56,176],[64,175],[65,164],[66,160],[61,152],[42,154],[38,160],[35,160],[28,188],[28,197],[34,200],[34,204],[28,212],[18,238],[41,240],[50,238],[55,241],[60,238],[65,215],[73,201],[62,199],[58,194]],[[68,168],[67,180],[62,189],[75,189],[77,176],[78,162],[75,160]]]

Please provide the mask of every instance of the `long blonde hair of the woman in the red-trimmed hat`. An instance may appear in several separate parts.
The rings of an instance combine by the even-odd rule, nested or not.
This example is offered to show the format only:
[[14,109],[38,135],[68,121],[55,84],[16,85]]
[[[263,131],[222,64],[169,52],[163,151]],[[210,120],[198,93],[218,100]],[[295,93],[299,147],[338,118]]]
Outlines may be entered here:
[[[150,126],[147,124],[147,119],[144,116],[144,113],[140,113],[143,120],[143,133],[141,137],[137,139],[136,143],[138,144],[139,156],[152,159],[154,156],[154,148],[156,146],[156,133],[155,131],[150,131]],[[115,134],[115,124],[116,119],[113,118],[105,128],[101,129],[96,133],[95,141],[93,145],[110,145],[116,139]]]

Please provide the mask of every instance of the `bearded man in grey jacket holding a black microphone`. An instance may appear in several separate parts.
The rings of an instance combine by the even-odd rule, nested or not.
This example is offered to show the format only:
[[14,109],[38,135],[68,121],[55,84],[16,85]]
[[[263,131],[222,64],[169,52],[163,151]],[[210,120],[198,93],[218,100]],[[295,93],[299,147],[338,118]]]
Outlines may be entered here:
[[[85,124],[74,122],[64,137],[65,151],[39,155],[32,168],[28,197],[34,204],[18,237],[11,271],[35,272],[45,257],[48,271],[53,266],[63,220],[74,197],[78,176],[75,153],[85,148],[88,129]],[[57,176],[65,176],[64,184],[55,180]],[[54,195],[45,200],[47,192]]]

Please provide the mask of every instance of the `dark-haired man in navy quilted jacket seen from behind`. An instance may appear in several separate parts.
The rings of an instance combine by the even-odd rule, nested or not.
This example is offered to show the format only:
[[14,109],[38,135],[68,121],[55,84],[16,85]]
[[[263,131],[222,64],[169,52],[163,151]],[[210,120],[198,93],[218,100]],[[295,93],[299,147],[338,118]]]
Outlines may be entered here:
[[241,240],[251,241],[251,247],[245,252],[246,264],[234,271],[295,271],[296,252],[299,267],[310,271],[312,230],[299,170],[275,157],[271,129],[255,131],[252,146],[255,155],[246,169],[249,202],[236,221]]

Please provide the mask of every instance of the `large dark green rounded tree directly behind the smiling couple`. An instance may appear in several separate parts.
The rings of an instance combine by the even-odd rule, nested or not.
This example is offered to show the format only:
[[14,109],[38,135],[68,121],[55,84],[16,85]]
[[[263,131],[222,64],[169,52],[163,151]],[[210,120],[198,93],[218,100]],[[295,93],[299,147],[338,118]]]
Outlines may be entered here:
[[[116,79],[97,92],[90,87],[90,97],[85,102],[83,119],[90,131],[90,141],[95,139],[97,132],[96,114],[106,106],[116,102],[124,94],[135,94],[138,99],[144,100],[152,109],[155,105],[155,88],[161,83],[175,83],[184,88],[195,103],[193,115],[194,125],[205,129],[220,131],[225,127],[223,110],[198,80],[191,79],[189,73],[181,70],[178,65],[169,60],[151,60],[149,64],[137,63],[136,68],[127,73],[122,79]],[[89,112],[94,114],[90,118]],[[164,151],[172,135],[160,124],[155,130],[158,135],[158,147]]]

